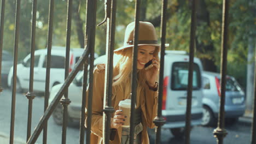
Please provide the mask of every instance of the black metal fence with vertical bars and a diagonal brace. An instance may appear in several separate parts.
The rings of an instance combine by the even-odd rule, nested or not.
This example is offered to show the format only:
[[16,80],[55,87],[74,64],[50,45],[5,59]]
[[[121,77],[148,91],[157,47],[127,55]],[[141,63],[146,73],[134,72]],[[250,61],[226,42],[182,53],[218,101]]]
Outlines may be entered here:
[[[46,77],[45,77],[45,103],[44,103],[44,115],[40,119],[36,129],[31,135],[31,121],[32,121],[32,107],[33,99],[36,94],[33,93],[33,72],[34,72],[34,50],[35,50],[35,33],[36,33],[36,11],[37,11],[37,0],[33,0],[33,11],[32,11],[32,28],[31,28],[31,64],[30,64],[30,87],[29,92],[26,94],[28,99],[28,120],[27,120],[27,143],[35,143],[39,134],[43,130],[43,143],[46,143],[47,134],[47,122],[53,113],[55,107],[61,101],[63,105],[63,125],[62,125],[62,143],[66,143],[66,128],[67,128],[67,107],[71,101],[68,99],[68,87],[75,75],[77,75],[80,67],[84,67],[84,85],[83,85],[83,100],[81,101],[82,111],[85,110],[86,97],[88,97],[88,128],[86,129],[86,143],[90,143],[91,134],[91,109],[92,109],[92,91],[89,91],[89,95],[86,95],[86,83],[88,79],[88,65],[91,65],[89,70],[89,82],[93,82],[93,65],[94,65],[94,47],[95,47],[95,28],[96,28],[96,0],[86,1],[86,32],[85,32],[85,49],[83,55],[80,57],[79,61],[75,65],[75,68],[68,74],[69,59],[66,59],[65,64],[65,82],[63,83],[60,91],[56,94],[55,98],[48,105],[49,99],[49,79],[50,79],[50,62],[51,62],[51,47],[52,47],[52,35],[53,35],[53,23],[54,23],[54,0],[50,0],[49,5],[49,23],[48,23],[48,37],[47,37],[47,60],[46,60]],[[192,1],[191,7],[191,26],[190,26],[190,49],[189,49],[189,80],[188,80],[188,95],[187,95],[187,112],[186,112],[186,123],[185,123],[185,143],[190,141],[190,120],[191,120],[191,93],[192,93],[192,82],[193,82],[193,59],[194,59],[194,41],[196,32],[196,0]],[[113,74],[113,50],[114,50],[114,37],[115,37],[115,13],[117,0],[105,0],[106,5],[106,17],[103,22],[107,22],[107,45],[106,51],[108,53],[108,64],[106,67],[107,81],[105,83],[106,93],[104,94],[104,100],[107,101],[103,109],[104,118],[104,128],[103,128],[103,143],[109,143],[109,131],[110,131],[110,115],[113,113],[114,109],[111,106],[112,97],[112,74]],[[132,89],[131,89],[131,129],[130,137],[133,137],[135,125],[132,123],[135,121],[135,99],[136,99],[136,87],[137,87],[137,48],[138,48],[138,26],[139,26],[139,10],[141,1],[137,0],[135,2],[135,49],[133,49],[133,68],[132,68]],[[70,40],[71,40],[71,17],[72,17],[72,0],[68,0],[67,6],[67,34],[66,34],[66,57],[69,57]],[[1,25],[0,25],[0,59],[2,59],[2,48],[3,48],[3,26],[4,26],[4,10],[5,10],[5,0],[2,0],[1,7]],[[156,139],[155,143],[160,143],[161,127],[165,123],[164,117],[162,117],[162,85],[163,85],[163,75],[164,75],[164,56],[165,56],[165,37],[166,37],[166,13],[167,13],[167,0],[162,0],[162,10],[161,10],[161,59],[160,59],[160,76],[159,76],[159,95],[158,95],[158,115],[155,117],[154,123],[156,125]],[[223,20],[222,20],[222,64],[221,64],[221,76],[226,75],[226,57],[227,57],[227,42],[228,42],[228,12],[229,12],[229,0],[223,0]],[[11,100],[11,122],[10,122],[10,142],[14,143],[14,125],[15,125],[15,97],[16,97],[16,73],[17,73],[17,61],[18,61],[18,43],[19,43],[19,23],[20,23],[20,0],[16,0],[16,18],[15,18],[15,41],[14,41],[14,61],[13,61],[13,89],[12,89],[12,100]],[[90,57],[89,57],[90,55]],[[89,63],[90,61],[90,63]],[[0,61],[0,71],[1,71],[2,61]],[[256,70],[255,70],[256,71]],[[256,75],[256,73],[255,73]],[[256,77],[256,76],[254,76]],[[219,119],[218,127],[214,130],[214,136],[217,137],[217,143],[223,143],[223,139],[227,134],[224,128],[224,104],[225,104],[225,83],[226,79],[221,79],[221,99],[220,99],[220,109],[219,109]],[[1,75],[0,75],[1,81]],[[255,81],[255,80],[254,80]],[[89,89],[92,89],[92,85],[89,85]],[[255,82],[254,82],[254,89]],[[3,88],[0,87],[0,92]],[[64,98],[62,98],[64,95]],[[254,99],[255,99],[254,90]],[[61,99],[62,98],[62,99]],[[255,100],[254,100],[254,118],[252,125],[252,140],[251,143],[256,143],[255,131],[256,131],[256,116],[255,116]],[[80,117],[80,143],[84,143],[85,134],[85,113],[82,112]],[[133,143],[130,139],[130,143]]]

